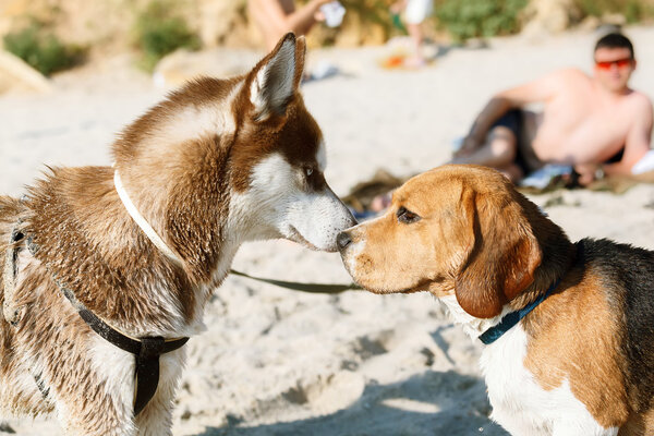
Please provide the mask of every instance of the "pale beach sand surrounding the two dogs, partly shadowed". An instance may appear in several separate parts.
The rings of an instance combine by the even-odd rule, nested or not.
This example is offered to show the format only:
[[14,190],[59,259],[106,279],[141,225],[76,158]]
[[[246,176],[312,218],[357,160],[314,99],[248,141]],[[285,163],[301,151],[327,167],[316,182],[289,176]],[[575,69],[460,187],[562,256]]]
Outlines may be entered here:
[[[654,97],[654,28],[629,28],[633,86]],[[596,35],[495,39],[451,49],[421,71],[385,71],[385,48],[322,50],[347,74],[307,83],[306,106],[328,144],[327,180],[344,195],[377,168],[396,174],[444,162],[485,100],[557,68],[590,71]],[[48,95],[0,98],[0,192],[21,195],[45,165],[110,165],[121,126],[161,98],[124,59],[55,81]],[[533,196],[572,240],[607,237],[654,249],[654,186],[617,196]],[[552,204],[552,206],[547,206]],[[243,246],[234,267],[287,280],[348,282],[336,254],[286,241]],[[481,344],[427,294],[307,295],[230,277],[193,338],[175,435],[506,435],[487,417]],[[12,420],[19,435],[59,435],[53,421]],[[2,432],[0,432],[2,434]]]

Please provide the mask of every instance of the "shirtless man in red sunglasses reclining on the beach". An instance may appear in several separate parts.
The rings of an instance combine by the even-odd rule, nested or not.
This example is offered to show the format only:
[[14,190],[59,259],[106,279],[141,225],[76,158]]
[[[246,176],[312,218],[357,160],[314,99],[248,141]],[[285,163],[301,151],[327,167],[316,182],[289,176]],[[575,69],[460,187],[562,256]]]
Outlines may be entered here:
[[[581,184],[631,174],[650,149],[652,104],[627,86],[635,69],[627,37],[601,38],[594,60],[592,77],[561,70],[495,95],[452,162],[493,167],[513,182],[545,164],[574,166]],[[521,109],[533,102],[543,113]]]

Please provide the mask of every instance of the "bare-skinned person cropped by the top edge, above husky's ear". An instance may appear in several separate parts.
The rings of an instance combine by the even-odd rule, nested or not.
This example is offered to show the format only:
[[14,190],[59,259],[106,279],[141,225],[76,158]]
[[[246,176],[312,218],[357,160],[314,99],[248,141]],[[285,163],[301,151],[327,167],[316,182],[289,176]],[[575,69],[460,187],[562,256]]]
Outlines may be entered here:
[[306,35],[314,24],[325,20],[320,12],[323,4],[332,0],[310,0],[295,9],[293,0],[250,0],[250,16],[262,31],[266,48],[271,50],[288,32]]

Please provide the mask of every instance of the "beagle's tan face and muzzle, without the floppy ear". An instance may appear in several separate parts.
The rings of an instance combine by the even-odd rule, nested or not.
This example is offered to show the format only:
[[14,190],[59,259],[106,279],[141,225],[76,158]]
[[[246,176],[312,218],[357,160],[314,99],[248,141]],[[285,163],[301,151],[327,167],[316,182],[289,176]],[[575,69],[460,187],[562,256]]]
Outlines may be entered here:
[[470,226],[459,201],[462,183],[443,175],[429,171],[409,180],[384,216],[347,231],[343,264],[361,286],[390,293],[451,281],[471,243]]

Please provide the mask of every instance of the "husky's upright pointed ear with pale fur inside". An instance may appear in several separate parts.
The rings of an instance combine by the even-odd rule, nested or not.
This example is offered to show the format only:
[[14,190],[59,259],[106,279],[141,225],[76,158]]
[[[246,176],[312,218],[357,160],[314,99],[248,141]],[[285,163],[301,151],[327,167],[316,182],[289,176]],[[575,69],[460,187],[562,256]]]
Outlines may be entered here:
[[289,33],[252,70],[250,101],[254,106],[254,119],[286,112],[302,80],[305,46],[303,37],[295,39],[295,35]]

